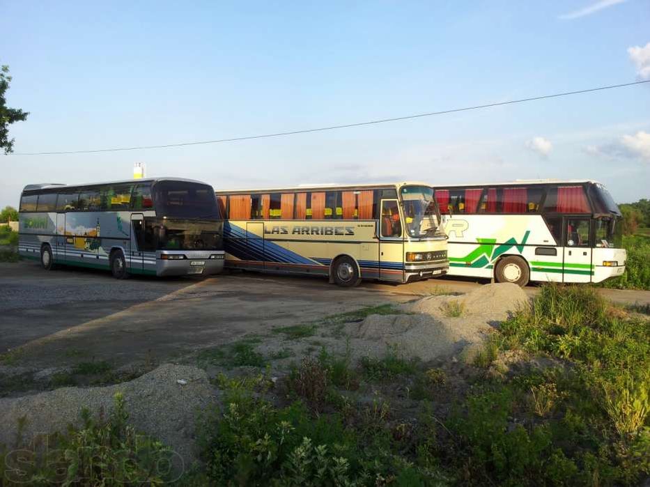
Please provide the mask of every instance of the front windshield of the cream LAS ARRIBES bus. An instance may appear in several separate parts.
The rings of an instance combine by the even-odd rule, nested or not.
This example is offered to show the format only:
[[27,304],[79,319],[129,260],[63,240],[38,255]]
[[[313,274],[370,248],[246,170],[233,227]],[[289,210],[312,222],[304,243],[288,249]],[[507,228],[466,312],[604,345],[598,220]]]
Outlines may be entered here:
[[404,186],[401,189],[404,219],[408,235],[414,238],[431,237],[438,231],[438,206],[433,199],[433,188]]

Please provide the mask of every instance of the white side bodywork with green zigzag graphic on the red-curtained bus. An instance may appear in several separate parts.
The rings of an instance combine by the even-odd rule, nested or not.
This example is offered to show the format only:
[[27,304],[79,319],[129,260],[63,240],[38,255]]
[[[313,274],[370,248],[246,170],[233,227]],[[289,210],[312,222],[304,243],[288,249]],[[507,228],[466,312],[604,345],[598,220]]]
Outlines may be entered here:
[[[541,215],[454,215],[445,219],[444,231],[449,236],[450,275],[489,279],[500,257],[519,255],[531,268],[532,280],[546,281],[546,275],[562,279],[562,272],[553,271],[552,258],[536,256],[537,247],[556,248],[562,262],[562,249],[556,246]],[[536,270],[533,261],[543,265]]]

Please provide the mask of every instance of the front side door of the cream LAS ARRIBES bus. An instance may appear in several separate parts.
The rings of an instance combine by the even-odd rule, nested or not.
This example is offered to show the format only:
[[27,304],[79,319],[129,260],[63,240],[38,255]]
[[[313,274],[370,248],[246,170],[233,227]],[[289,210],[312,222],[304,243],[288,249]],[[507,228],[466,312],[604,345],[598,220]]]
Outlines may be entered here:
[[379,277],[402,281],[404,277],[404,240],[399,203],[382,199],[379,221]]

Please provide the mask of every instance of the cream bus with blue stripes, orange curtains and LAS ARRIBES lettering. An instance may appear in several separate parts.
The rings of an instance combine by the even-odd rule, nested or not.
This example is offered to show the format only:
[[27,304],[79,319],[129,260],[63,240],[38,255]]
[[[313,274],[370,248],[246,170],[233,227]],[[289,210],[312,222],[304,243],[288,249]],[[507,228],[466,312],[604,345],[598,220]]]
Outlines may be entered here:
[[424,183],[217,192],[226,268],[405,283],[447,273],[447,237]]

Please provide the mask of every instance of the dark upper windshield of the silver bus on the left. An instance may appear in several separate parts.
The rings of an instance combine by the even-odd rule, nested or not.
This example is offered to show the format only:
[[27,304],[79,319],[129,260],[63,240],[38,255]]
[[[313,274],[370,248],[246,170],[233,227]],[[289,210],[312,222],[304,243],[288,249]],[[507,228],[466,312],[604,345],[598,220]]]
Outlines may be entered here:
[[156,215],[180,219],[220,219],[212,187],[185,181],[159,181],[153,187]]

